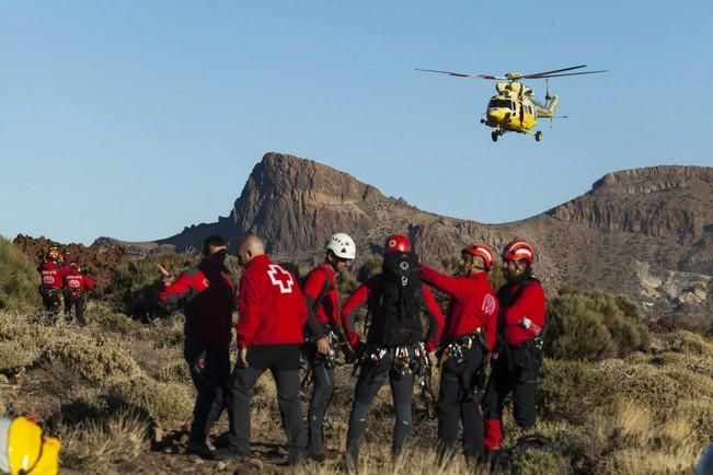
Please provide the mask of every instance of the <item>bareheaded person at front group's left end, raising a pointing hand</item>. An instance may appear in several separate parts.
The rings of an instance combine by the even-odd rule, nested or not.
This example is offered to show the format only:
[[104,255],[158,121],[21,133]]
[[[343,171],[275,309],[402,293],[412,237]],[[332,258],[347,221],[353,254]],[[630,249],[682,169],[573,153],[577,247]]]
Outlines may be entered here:
[[206,441],[222,412],[230,380],[229,345],[235,289],[225,264],[227,255],[228,242],[222,236],[206,238],[198,266],[177,279],[165,273],[164,289],[159,294],[169,310],[184,308],[183,356],[197,392],[187,452],[205,459],[212,459]]

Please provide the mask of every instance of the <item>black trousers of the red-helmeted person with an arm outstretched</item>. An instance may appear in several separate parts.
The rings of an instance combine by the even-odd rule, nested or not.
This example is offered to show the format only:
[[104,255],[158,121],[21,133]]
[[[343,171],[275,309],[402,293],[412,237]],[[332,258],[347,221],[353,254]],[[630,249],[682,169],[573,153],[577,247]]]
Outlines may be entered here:
[[483,418],[478,397],[483,371],[483,347],[463,348],[459,363],[451,356],[444,363],[438,395],[438,460],[445,463],[456,451],[458,422],[463,425],[463,452],[467,459],[483,455]]

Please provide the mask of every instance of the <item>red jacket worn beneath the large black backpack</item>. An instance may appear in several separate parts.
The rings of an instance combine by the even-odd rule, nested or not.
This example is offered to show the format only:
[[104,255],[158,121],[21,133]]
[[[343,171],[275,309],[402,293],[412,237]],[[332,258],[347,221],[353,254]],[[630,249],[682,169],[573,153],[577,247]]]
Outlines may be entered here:
[[[369,328],[369,335],[367,335],[367,343],[373,343],[379,345],[380,341],[380,328],[382,327],[383,313],[381,309],[381,274],[371,277],[369,280],[360,285],[353,293],[349,296],[349,299],[346,301],[342,308],[342,326],[344,326],[346,338],[349,341],[349,345],[354,348],[359,343],[359,334],[356,332],[355,321],[354,321],[354,311],[367,300],[367,305],[369,308],[369,315],[371,315],[371,325]],[[438,346],[440,340],[440,334],[444,331],[444,314],[438,306],[438,302],[434,299],[434,294],[430,293],[427,287],[422,288],[422,293],[424,297],[424,304],[426,305],[427,314],[430,320],[428,326],[428,334],[426,336],[426,348],[428,351],[433,351]]]

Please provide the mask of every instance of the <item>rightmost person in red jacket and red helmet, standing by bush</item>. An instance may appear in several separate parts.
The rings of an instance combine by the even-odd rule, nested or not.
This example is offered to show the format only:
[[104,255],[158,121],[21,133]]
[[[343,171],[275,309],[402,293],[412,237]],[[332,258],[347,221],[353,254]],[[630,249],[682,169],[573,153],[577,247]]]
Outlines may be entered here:
[[503,407],[511,392],[515,421],[534,426],[537,380],[542,366],[540,332],[545,318],[542,285],[532,273],[534,251],[526,241],[511,241],[503,251],[503,275],[507,282],[497,292],[501,304],[497,326],[499,346],[483,396],[485,450],[497,460],[503,439]]

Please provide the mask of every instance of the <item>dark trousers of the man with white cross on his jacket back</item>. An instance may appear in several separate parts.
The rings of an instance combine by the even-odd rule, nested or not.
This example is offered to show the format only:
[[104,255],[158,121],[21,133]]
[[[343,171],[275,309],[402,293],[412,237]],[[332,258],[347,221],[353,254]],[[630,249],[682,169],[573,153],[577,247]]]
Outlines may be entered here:
[[277,404],[287,435],[291,461],[304,456],[307,431],[299,401],[299,346],[264,345],[248,349],[248,368],[235,367],[228,396],[230,448],[239,455],[250,456],[250,401],[257,379],[267,370],[277,385]]

